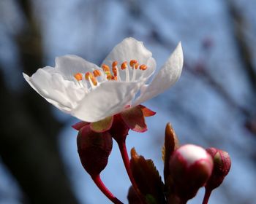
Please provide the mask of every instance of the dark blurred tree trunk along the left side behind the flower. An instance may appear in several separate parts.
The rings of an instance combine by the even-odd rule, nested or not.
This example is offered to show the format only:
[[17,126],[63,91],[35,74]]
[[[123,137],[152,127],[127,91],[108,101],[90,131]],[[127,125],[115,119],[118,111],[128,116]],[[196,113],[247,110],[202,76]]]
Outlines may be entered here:
[[[13,40],[19,50],[20,66],[32,74],[42,66],[40,26],[31,2],[17,2],[26,17],[26,27]],[[11,92],[1,72],[0,85],[4,119],[0,126],[0,155],[18,180],[26,203],[78,203],[64,173],[56,142],[62,124],[54,119],[50,105],[29,86],[24,93]]]

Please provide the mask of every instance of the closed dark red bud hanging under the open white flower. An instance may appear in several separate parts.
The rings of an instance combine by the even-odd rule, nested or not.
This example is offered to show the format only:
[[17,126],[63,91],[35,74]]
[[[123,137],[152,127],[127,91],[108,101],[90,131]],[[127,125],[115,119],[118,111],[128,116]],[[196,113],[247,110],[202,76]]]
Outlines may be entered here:
[[83,168],[90,176],[97,176],[108,164],[108,157],[112,150],[112,137],[110,133],[95,133],[89,125],[79,130],[78,154]]

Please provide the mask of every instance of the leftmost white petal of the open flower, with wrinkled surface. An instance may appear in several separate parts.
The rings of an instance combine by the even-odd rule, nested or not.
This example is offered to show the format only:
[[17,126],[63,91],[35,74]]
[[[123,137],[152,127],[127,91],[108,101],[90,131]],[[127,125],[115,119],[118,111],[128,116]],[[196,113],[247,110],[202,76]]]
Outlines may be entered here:
[[23,76],[39,95],[64,112],[77,106],[85,94],[75,82],[64,80],[52,67],[39,68],[31,77],[24,73]]

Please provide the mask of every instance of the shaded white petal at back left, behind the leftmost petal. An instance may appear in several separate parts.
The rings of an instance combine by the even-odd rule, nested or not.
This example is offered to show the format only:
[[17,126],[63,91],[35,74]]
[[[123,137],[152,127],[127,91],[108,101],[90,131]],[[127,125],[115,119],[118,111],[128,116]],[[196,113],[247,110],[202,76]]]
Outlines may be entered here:
[[99,69],[94,63],[84,60],[77,55],[64,55],[55,59],[56,71],[64,76],[64,79],[73,79],[74,74],[86,73]]

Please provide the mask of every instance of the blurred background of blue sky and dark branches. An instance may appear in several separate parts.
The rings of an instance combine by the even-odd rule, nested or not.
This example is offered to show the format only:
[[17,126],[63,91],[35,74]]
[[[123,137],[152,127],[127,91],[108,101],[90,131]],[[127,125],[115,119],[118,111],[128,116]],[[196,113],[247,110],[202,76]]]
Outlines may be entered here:
[[[100,65],[127,36],[143,41],[158,68],[181,41],[184,71],[144,105],[157,111],[128,149],[152,158],[162,175],[165,124],[181,144],[230,153],[232,168],[210,204],[256,203],[255,0],[0,0],[0,203],[110,203],[83,170],[78,119],[62,114],[22,72],[74,54]],[[129,179],[116,144],[102,179],[127,203]],[[201,203],[203,189],[189,203]]]

